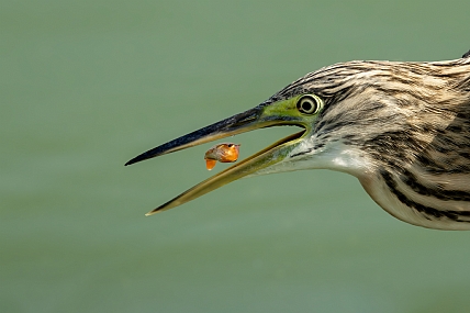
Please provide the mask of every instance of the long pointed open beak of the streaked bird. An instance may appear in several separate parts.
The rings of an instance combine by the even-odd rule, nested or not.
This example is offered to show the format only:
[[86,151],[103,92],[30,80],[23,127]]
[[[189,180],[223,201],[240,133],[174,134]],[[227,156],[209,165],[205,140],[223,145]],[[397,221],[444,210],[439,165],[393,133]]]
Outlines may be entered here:
[[[289,114],[277,114],[276,110],[266,110],[266,107],[258,105],[243,113],[233,115],[228,119],[205,126],[190,134],[170,141],[158,147],[155,147],[146,153],[131,159],[125,165],[131,165],[141,160],[157,157],[168,153],[177,152],[188,147],[197,146],[208,142],[216,141],[227,136],[240,134],[256,128],[270,127],[275,125],[299,125],[307,128],[307,125],[296,116]],[[184,191],[175,199],[148,212],[146,215],[152,215],[159,211],[165,211],[198,197],[201,197],[214,189],[217,189],[228,182],[237,180],[248,175],[256,175],[260,169],[266,169],[275,164],[281,163],[290,152],[298,146],[305,131],[290,135],[277,143],[266,147],[257,154],[233,165],[232,167],[210,177],[209,179],[198,183],[197,186]]]

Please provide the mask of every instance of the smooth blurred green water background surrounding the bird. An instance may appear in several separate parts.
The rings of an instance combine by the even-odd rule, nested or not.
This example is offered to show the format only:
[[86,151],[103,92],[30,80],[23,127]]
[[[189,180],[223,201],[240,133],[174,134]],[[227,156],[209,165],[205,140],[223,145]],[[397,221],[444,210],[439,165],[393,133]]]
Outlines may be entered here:
[[[236,181],[168,139],[351,59],[470,48],[469,1],[2,1],[0,312],[468,312],[470,233],[333,171]],[[234,137],[245,158],[293,130]]]

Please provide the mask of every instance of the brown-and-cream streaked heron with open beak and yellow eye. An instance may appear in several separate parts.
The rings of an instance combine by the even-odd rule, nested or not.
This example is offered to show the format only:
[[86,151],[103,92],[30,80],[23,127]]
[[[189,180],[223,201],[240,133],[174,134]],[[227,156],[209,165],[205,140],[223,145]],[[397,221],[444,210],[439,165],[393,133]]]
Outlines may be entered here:
[[470,230],[470,51],[451,60],[326,66],[253,109],[152,148],[125,165],[286,125],[301,131],[146,215],[244,177],[331,169],[355,176],[378,205],[403,222]]

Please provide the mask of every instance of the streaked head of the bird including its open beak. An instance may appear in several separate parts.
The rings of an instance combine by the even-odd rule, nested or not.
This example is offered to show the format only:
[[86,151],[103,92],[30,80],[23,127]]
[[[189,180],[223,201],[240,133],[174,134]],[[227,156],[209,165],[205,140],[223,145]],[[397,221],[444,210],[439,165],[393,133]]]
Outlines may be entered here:
[[[400,134],[413,115],[412,111],[416,110],[416,105],[412,109],[405,105],[410,100],[406,97],[421,85],[406,80],[412,79],[406,77],[413,76],[413,71],[400,72],[399,69],[393,63],[373,62],[322,68],[290,83],[254,109],[131,159],[126,165],[256,128],[283,125],[302,128],[200,182],[147,215],[183,204],[247,176],[327,168],[349,172],[359,179],[366,177],[377,170],[380,152],[374,147],[381,136],[387,141],[383,134]],[[423,83],[438,85],[439,81]],[[406,92],[398,92],[403,86],[406,86]],[[388,149],[393,154],[396,147],[399,145],[390,145]]]

